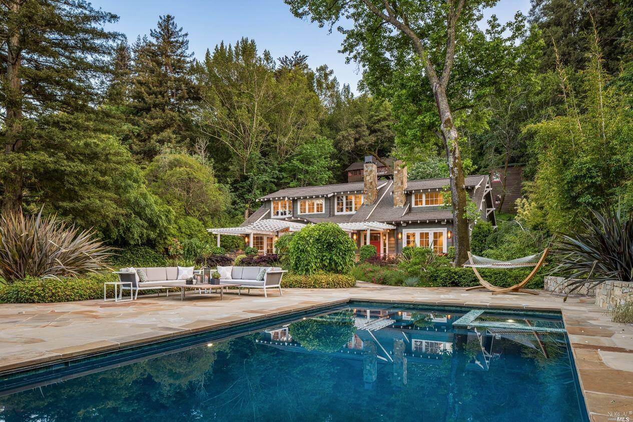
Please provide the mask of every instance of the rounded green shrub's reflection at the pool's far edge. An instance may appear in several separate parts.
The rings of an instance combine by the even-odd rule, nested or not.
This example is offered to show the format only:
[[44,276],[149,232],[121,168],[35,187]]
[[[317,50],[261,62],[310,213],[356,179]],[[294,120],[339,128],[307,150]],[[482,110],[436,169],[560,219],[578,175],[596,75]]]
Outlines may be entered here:
[[351,309],[290,324],[290,335],[306,350],[336,352],[356,332]]

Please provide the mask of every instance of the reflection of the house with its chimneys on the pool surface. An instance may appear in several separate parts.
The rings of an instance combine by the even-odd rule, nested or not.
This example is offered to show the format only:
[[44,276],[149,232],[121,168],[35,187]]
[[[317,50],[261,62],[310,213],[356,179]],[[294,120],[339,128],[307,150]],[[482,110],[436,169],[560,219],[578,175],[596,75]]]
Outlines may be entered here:
[[[353,312],[356,333],[336,352],[306,350],[292,338],[288,326],[264,331],[263,338],[258,342],[282,350],[337,355],[358,360],[365,359],[368,345],[372,345],[370,350],[375,346],[377,362],[394,363],[398,360],[397,355],[401,354],[408,362],[440,364],[442,357],[453,351],[456,331],[452,324],[463,315],[379,309],[354,309]],[[482,352],[475,357],[475,364],[469,364],[472,366],[469,369],[487,370],[492,336],[468,337],[468,342],[477,341],[482,345]],[[399,343],[401,346],[398,346]],[[482,362],[477,364],[478,361]]]

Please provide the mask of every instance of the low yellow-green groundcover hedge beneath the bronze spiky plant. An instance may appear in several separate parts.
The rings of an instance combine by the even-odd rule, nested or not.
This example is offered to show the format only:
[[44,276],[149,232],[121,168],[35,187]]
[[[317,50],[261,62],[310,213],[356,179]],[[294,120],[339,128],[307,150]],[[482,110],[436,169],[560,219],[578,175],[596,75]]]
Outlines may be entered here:
[[103,298],[103,282],[91,278],[30,278],[0,288],[0,302],[8,304],[73,302],[97,298]]

